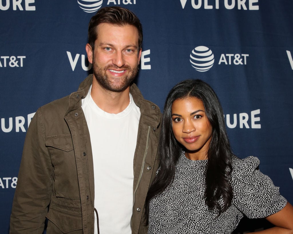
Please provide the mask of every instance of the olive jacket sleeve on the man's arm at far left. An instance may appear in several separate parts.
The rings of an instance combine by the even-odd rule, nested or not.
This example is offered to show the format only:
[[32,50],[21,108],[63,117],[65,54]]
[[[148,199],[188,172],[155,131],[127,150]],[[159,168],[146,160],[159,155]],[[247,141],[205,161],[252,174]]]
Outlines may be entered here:
[[14,194],[10,233],[42,233],[52,192],[52,163],[45,146],[40,109],[25,137]]

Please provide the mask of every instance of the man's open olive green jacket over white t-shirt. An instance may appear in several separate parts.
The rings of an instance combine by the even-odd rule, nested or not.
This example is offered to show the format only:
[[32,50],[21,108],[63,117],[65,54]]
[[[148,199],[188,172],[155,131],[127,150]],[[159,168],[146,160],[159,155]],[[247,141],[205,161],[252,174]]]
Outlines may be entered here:
[[[77,92],[42,106],[25,138],[13,199],[10,233],[94,233],[94,173],[91,140],[81,108],[93,76]],[[159,165],[161,113],[130,86],[141,116],[133,160],[132,233],[145,233],[144,202]]]

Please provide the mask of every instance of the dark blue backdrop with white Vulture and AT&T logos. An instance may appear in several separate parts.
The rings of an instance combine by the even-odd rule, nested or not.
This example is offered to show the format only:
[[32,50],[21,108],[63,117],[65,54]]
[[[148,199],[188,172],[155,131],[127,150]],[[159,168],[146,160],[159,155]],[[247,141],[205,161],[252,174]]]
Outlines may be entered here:
[[129,8],[142,22],[144,97],[162,109],[180,80],[208,82],[234,153],[257,156],[293,203],[292,0],[0,0],[0,232],[8,233],[30,120],[91,73],[87,27],[104,6]]

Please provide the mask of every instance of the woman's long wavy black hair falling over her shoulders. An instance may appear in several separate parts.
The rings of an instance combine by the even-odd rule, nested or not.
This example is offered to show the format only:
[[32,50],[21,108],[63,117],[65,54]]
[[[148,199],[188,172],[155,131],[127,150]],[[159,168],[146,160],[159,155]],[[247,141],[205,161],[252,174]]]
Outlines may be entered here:
[[[188,97],[195,97],[203,102],[206,116],[213,129],[207,155],[205,203],[209,210],[218,209],[219,214],[231,205],[233,192],[228,177],[232,172],[231,160],[233,153],[226,133],[222,106],[217,94],[206,82],[202,80],[184,80],[171,89],[165,102],[159,141],[161,164],[146,198],[147,223],[150,199],[163,192],[173,181],[176,163],[184,150],[173,134],[172,104],[177,99]],[[221,197],[224,201],[223,206],[219,204]]]

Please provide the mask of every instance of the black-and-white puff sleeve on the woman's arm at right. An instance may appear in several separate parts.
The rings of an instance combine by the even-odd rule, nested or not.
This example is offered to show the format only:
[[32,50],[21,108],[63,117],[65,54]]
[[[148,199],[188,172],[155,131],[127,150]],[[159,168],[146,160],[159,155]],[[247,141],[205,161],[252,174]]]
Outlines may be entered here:
[[232,163],[231,184],[234,206],[248,218],[264,218],[285,207],[287,200],[279,187],[258,169],[259,159],[249,156]]

